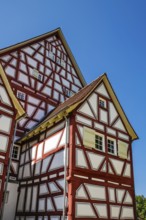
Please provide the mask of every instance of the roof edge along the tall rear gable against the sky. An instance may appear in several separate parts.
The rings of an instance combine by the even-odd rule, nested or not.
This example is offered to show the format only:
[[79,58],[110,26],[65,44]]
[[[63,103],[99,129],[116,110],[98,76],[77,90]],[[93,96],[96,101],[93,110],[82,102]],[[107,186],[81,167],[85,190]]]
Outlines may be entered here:
[[51,37],[51,36],[54,36],[54,35],[58,36],[59,39],[62,41],[62,44],[65,47],[66,52],[69,55],[70,60],[71,60],[71,62],[73,64],[73,66],[74,66],[74,68],[75,68],[75,70],[76,70],[76,72],[77,72],[77,74],[78,74],[78,76],[79,76],[83,86],[85,86],[86,85],[86,81],[85,81],[85,79],[84,79],[84,77],[83,77],[83,75],[82,75],[82,73],[80,71],[80,68],[79,68],[79,66],[78,66],[78,64],[77,64],[77,62],[76,62],[76,60],[75,60],[75,58],[74,58],[74,56],[73,56],[73,54],[72,54],[72,52],[70,50],[70,47],[69,47],[69,45],[68,45],[68,43],[67,43],[67,41],[66,41],[66,39],[65,39],[65,37],[64,37],[64,35],[63,35],[63,33],[62,33],[60,28],[57,28],[57,29],[55,29],[53,31],[50,31],[50,32],[45,33],[45,34],[42,34],[40,36],[31,38],[29,40],[23,41],[23,42],[18,43],[16,45],[13,45],[13,46],[1,49],[0,50],[0,56],[4,55],[4,54],[7,54],[7,53],[10,53],[12,51],[18,50],[19,48],[29,46],[32,43],[39,42],[40,40],[44,40],[44,39],[46,39],[48,37]]

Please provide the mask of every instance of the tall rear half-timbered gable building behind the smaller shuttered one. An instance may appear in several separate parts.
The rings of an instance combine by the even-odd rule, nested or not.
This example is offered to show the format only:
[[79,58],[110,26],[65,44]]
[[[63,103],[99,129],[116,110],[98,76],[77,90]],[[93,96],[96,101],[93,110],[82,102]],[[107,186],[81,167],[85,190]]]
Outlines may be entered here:
[[60,29],[1,50],[0,62],[27,112],[17,126],[17,137],[85,85]]

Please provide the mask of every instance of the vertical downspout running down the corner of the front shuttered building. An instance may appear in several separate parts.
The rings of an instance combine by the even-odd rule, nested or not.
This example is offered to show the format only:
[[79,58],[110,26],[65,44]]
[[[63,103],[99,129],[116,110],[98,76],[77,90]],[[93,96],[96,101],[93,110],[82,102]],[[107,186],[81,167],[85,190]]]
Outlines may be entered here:
[[67,147],[69,143],[69,118],[65,117],[65,128],[66,128],[66,138],[65,138],[65,148],[64,148],[64,197],[63,197],[63,219],[65,220],[66,216],[66,177],[67,177],[67,162],[68,154]]

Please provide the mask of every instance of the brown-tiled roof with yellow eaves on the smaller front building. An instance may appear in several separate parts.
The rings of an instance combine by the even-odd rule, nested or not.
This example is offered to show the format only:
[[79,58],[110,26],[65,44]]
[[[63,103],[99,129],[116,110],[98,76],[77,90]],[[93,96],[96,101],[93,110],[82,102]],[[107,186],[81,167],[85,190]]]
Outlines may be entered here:
[[122,121],[131,136],[132,140],[135,140],[138,138],[136,132],[134,131],[133,127],[131,126],[129,120],[127,119],[114,91],[113,88],[107,78],[106,74],[101,75],[99,78],[94,80],[89,85],[82,88],[78,93],[76,93],[74,96],[67,99],[64,103],[61,103],[52,113],[50,113],[40,124],[38,124],[36,127],[34,127],[30,132],[28,132],[24,137],[22,137],[18,142],[22,142],[39,132],[42,132],[48,127],[53,126],[54,123],[62,120],[64,117],[67,117],[69,113],[71,113],[79,104],[84,102],[85,99],[94,91],[94,89],[101,83],[104,82],[107,91],[109,92],[112,101],[122,118]]

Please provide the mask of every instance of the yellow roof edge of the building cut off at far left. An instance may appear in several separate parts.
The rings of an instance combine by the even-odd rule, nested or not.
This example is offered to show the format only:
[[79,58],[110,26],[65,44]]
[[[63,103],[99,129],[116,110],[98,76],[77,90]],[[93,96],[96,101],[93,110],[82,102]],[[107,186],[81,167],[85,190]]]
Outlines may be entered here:
[[7,76],[6,76],[5,72],[4,72],[1,64],[0,64],[0,76],[2,77],[2,80],[3,80],[4,84],[5,84],[5,88],[7,89],[7,92],[8,92],[8,94],[9,94],[11,100],[12,100],[12,103],[13,103],[15,109],[17,110],[16,119],[18,120],[18,119],[24,117],[26,114],[25,114],[24,109],[20,105],[18,99],[14,95],[13,90],[12,90],[10,84],[9,84],[9,81],[7,79]]

